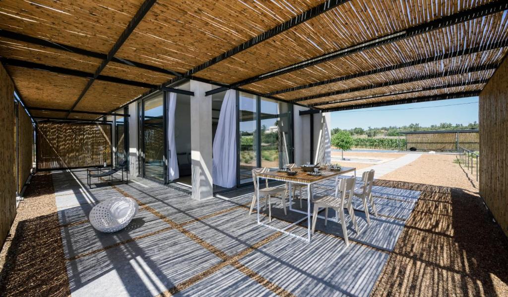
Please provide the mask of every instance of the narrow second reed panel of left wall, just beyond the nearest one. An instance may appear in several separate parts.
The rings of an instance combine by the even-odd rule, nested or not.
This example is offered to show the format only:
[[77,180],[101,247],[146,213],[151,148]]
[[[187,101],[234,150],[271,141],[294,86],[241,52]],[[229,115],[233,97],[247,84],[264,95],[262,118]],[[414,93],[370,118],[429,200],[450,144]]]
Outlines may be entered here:
[[34,154],[34,126],[25,112],[25,109],[18,104],[18,193],[21,193],[23,184],[30,175],[31,168],[33,167],[33,154]]

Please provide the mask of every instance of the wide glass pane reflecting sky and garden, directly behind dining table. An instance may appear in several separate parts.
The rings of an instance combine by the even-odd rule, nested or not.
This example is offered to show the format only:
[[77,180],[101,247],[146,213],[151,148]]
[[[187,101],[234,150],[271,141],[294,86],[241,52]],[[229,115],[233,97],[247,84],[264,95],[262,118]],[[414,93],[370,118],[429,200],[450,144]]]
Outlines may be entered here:
[[261,98],[261,167],[291,163],[290,104]]

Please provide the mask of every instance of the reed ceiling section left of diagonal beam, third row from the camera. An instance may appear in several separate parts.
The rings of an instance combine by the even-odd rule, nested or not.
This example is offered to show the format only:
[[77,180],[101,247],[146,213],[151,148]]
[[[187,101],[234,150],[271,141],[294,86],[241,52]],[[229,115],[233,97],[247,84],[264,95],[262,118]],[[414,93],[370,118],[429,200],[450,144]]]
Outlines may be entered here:
[[71,108],[87,79],[53,72],[7,66],[7,71],[31,107]]

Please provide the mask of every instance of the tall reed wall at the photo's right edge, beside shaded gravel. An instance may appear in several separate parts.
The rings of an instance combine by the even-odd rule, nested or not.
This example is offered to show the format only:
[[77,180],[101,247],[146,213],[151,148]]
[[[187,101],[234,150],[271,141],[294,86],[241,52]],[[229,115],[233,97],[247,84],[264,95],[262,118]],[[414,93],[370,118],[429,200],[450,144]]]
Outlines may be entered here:
[[480,93],[480,195],[508,236],[508,60]]

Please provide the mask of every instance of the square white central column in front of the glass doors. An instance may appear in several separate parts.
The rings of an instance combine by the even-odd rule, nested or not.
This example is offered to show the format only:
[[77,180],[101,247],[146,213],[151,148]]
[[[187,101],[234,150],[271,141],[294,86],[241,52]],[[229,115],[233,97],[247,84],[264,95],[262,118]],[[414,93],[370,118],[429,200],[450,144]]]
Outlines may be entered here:
[[190,147],[192,156],[192,198],[212,198],[212,98],[205,96],[210,84],[190,81]]

